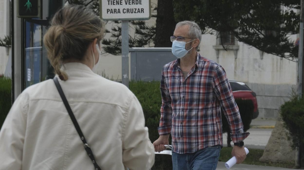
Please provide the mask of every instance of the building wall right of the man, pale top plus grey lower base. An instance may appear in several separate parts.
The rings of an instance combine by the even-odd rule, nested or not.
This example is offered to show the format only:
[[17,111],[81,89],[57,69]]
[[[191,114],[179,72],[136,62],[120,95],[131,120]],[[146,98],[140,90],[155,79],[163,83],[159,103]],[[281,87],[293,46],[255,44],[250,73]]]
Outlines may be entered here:
[[[295,40],[297,35],[291,35]],[[261,53],[254,47],[237,42],[233,50],[219,50],[216,56],[216,36],[202,35],[201,51],[204,57],[216,61],[226,70],[230,80],[245,82],[257,94],[260,118],[276,118],[278,109],[288,101],[292,88],[296,89],[297,63],[272,54]]]

